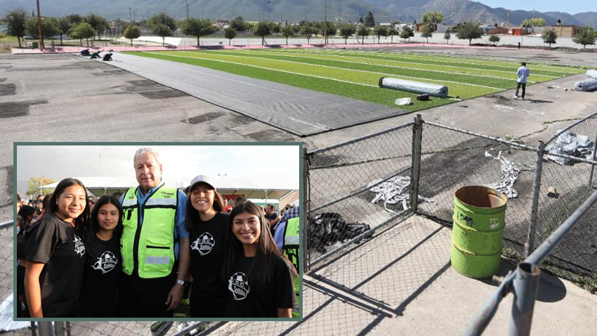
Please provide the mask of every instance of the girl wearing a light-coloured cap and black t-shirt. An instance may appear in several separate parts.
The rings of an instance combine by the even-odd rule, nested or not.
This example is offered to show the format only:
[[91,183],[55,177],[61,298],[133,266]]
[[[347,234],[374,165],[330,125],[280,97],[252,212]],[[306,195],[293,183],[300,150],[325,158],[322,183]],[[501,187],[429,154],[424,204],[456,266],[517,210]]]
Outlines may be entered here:
[[226,287],[220,278],[224,262],[224,241],[229,215],[222,196],[209,176],[192,179],[187,201],[187,230],[190,232],[191,317],[224,316]]

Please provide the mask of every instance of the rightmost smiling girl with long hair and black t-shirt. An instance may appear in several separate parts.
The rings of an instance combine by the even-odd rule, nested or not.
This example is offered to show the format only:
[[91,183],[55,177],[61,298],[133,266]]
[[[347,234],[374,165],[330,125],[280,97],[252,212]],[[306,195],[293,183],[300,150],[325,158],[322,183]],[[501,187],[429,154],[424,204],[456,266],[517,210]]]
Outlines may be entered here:
[[278,250],[268,219],[253,202],[232,209],[225,252],[227,317],[291,317],[297,306],[296,270]]

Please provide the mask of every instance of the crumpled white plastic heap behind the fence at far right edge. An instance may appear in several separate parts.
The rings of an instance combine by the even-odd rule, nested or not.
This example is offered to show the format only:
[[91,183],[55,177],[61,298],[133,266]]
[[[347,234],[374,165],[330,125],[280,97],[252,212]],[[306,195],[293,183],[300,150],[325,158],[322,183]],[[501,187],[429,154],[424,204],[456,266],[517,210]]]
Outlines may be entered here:
[[[560,131],[558,131],[559,133]],[[545,147],[545,150],[549,153],[564,154],[574,157],[581,157],[584,159],[591,160],[593,155],[593,146],[595,144],[589,136],[582,134],[577,135],[571,131],[565,131]],[[565,157],[559,157],[554,155],[546,155],[547,158],[560,165],[572,165],[574,162]]]

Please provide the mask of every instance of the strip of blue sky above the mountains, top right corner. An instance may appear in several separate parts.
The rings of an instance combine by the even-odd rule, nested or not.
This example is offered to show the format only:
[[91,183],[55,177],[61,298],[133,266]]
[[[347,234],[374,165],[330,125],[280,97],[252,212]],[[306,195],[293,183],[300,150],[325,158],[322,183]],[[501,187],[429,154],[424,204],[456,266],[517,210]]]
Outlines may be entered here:
[[[473,0],[474,1],[474,0]],[[570,14],[597,12],[597,0],[478,0],[493,8],[506,8],[512,11],[564,12]]]

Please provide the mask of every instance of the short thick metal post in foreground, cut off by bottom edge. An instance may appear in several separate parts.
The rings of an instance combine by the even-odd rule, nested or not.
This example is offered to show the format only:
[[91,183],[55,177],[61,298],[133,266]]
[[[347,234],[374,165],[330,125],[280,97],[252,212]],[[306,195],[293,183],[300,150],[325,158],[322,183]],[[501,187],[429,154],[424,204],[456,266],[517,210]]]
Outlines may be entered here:
[[541,270],[537,265],[527,262],[518,264],[512,288],[514,302],[508,335],[530,335],[540,274]]

